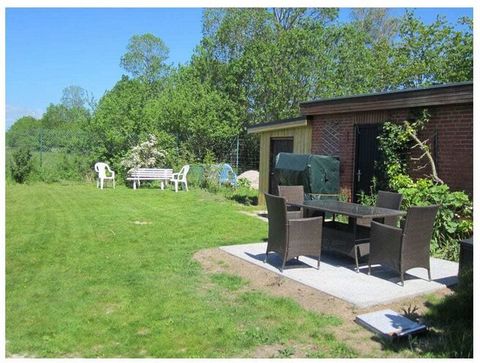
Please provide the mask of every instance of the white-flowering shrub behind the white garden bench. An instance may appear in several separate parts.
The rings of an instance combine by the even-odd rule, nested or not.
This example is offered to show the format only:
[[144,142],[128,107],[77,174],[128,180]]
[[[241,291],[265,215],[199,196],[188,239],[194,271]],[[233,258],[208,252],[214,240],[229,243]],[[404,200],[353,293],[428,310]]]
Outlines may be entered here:
[[122,159],[121,164],[126,170],[137,168],[152,168],[162,166],[167,152],[158,145],[155,135],[149,135],[148,140],[134,146]]

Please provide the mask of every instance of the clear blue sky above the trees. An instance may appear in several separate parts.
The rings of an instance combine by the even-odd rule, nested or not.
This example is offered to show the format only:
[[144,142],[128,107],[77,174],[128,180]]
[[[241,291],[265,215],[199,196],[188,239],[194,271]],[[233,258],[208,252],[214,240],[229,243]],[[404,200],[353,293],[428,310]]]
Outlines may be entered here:
[[[415,12],[427,23],[437,14],[452,23],[472,16],[471,8]],[[348,15],[349,9],[342,9],[340,19]],[[120,57],[134,34],[160,37],[173,64],[188,62],[202,36],[200,8],[7,8],[5,20],[6,128],[23,115],[41,117],[70,85],[101,98],[124,73]]]

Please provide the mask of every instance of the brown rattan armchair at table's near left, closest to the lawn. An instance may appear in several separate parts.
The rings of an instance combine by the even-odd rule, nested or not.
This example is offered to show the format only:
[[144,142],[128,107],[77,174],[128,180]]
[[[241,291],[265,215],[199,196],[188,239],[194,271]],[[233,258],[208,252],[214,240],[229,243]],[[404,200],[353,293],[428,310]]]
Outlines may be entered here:
[[320,268],[322,251],[322,217],[288,219],[285,198],[265,193],[268,211],[268,244],[265,261],[269,252],[277,252],[283,262],[298,256],[318,256]]

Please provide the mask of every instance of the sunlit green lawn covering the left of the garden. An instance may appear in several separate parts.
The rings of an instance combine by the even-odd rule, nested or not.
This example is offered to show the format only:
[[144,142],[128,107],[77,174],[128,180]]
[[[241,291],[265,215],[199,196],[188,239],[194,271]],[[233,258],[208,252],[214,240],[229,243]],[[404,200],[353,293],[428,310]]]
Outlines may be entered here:
[[264,345],[355,356],[340,319],[207,274],[201,249],[267,225],[200,190],[6,186],[6,351],[27,357],[245,357]]

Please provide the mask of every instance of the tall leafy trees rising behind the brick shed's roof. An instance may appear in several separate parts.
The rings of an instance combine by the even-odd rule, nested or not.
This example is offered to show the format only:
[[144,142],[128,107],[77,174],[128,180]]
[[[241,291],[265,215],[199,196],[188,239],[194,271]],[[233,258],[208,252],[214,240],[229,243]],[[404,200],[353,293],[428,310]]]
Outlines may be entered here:
[[245,110],[246,124],[295,116],[302,100],[472,79],[468,20],[455,30],[444,19],[427,26],[414,13],[382,9],[354,11],[350,23],[334,18],[312,9],[206,10],[192,66]]

